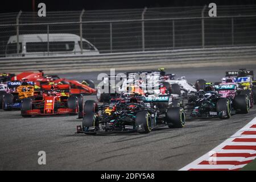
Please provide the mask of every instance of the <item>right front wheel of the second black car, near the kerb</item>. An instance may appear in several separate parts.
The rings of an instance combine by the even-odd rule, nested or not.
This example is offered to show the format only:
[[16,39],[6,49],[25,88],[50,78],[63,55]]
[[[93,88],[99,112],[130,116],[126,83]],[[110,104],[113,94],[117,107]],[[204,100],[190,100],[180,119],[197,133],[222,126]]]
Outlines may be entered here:
[[228,99],[221,98],[220,100],[217,101],[217,113],[220,119],[231,117],[231,108],[230,108],[230,102]]

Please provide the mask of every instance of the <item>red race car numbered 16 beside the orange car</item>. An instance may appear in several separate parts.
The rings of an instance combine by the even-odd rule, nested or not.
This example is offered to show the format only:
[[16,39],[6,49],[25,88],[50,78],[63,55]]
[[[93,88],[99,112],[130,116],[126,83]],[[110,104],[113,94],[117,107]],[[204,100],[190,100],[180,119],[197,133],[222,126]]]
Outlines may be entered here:
[[32,115],[57,115],[79,113],[79,102],[76,96],[69,96],[69,85],[42,85],[42,94],[24,98],[21,105],[23,117]]

